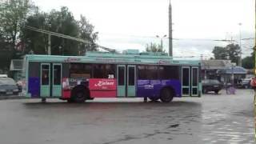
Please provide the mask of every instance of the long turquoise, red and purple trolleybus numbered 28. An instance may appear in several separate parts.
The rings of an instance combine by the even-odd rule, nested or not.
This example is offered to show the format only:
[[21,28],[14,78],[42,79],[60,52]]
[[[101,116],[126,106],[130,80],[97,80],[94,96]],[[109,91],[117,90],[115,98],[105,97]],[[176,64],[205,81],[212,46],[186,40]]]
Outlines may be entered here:
[[149,53],[24,57],[26,98],[60,98],[68,102],[94,98],[171,102],[174,97],[200,97],[200,69],[199,61]]

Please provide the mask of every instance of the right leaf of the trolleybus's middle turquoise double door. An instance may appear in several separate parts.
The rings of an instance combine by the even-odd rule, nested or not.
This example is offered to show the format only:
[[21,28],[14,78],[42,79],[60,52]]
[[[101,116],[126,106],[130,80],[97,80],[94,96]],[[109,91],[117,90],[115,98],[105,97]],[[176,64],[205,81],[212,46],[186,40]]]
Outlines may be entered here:
[[135,97],[136,66],[127,66],[127,97]]

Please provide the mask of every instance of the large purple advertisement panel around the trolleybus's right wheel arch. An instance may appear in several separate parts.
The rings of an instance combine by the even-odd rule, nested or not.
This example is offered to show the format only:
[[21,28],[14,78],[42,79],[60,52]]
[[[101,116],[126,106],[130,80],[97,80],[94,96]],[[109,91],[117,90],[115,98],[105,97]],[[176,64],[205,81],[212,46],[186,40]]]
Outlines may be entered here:
[[182,97],[182,85],[179,80],[138,80],[138,97],[159,97],[163,87],[172,87],[175,91],[175,97]]

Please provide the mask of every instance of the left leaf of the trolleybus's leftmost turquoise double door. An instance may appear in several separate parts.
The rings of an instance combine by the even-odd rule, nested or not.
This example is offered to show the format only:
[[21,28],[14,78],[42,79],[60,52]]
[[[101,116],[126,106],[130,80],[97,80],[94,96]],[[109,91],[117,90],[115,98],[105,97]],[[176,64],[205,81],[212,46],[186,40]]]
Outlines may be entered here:
[[40,71],[40,96],[50,97],[50,63],[42,63]]

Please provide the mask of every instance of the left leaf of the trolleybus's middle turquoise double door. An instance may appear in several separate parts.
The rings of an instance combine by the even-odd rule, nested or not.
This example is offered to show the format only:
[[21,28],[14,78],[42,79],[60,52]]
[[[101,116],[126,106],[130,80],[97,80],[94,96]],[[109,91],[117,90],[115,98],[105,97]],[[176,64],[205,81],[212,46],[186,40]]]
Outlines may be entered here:
[[118,65],[118,97],[126,97],[126,66]]

